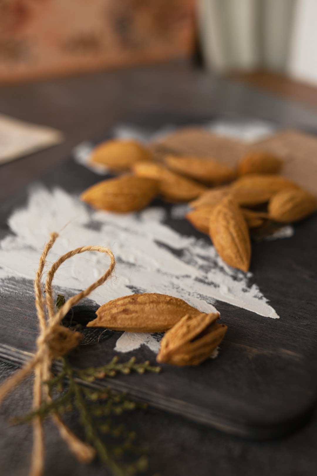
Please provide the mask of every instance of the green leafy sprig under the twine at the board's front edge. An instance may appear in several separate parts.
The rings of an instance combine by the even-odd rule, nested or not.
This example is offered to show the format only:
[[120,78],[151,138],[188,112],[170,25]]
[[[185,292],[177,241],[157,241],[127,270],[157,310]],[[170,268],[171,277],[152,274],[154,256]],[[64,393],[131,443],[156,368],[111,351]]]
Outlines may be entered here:
[[[134,445],[134,432],[128,431],[123,424],[116,426],[112,418],[125,411],[145,408],[146,405],[131,401],[125,393],[114,393],[110,387],[103,390],[85,387],[78,383],[78,378],[92,382],[96,378],[114,377],[116,372],[157,373],[160,368],[152,367],[147,361],[138,364],[135,358],[119,363],[115,357],[105,366],[78,370],[71,366],[67,358],[61,360],[62,367],[58,374],[46,382],[49,394],[55,398],[50,403],[43,403],[38,410],[16,419],[15,422],[25,423],[34,417],[45,418],[52,413],[61,415],[67,411],[77,410],[87,442],[95,447],[100,460],[114,476],[134,476],[144,471],[147,467],[147,457],[144,455],[146,450]],[[121,461],[123,456],[129,456],[129,463]]]

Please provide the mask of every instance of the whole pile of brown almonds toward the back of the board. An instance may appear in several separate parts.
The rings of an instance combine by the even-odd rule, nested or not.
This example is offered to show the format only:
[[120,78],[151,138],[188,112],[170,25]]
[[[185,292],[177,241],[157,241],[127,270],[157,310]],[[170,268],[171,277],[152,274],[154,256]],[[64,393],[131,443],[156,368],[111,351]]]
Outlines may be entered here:
[[213,158],[166,155],[158,161],[135,141],[110,140],[90,160],[125,175],[88,188],[82,200],[119,213],[140,210],[155,196],[189,202],[186,218],[209,234],[227,264],[243,271],[250,267],[250,232],[301,220],[317,209],[316,197],[277,175],[282,160],[264,151],[245,155],[235,170]]

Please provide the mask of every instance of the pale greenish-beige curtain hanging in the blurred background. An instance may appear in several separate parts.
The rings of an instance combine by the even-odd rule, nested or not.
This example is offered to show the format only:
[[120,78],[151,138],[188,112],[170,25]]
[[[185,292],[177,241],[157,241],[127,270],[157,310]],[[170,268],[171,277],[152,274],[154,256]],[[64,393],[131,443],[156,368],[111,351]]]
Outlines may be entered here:
[[197,16],[205,65],[220,72],[258,68],[284,71],[294,8],[295,0],[199,0]]

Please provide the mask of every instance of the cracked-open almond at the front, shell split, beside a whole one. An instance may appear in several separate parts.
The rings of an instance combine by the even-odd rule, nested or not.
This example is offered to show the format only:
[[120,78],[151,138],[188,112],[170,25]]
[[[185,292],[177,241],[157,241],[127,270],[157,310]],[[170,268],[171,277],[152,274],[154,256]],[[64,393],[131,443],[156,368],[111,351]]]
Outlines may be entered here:
[[182,317],[164,335],[156,360],[179,367],[199,365],[211,356],[227,331],[218,320],[218,312]]

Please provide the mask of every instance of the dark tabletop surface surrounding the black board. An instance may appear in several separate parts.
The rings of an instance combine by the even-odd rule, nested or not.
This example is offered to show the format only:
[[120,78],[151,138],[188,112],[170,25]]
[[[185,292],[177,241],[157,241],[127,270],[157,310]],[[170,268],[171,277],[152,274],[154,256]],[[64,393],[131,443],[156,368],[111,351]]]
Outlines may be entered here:
[[[153,111],[184,114],[251,116],[288,126],[317,129],[317,112],[298,103],[212,78],[186,63],[134,68],[92,76],[46,80],[0,88],[0,112],[58,128],[66,141],[0,167],[0,200],[67,159],[80,141],[98,135],[132,115]],[[0,361],[0,378],[15,367]],[[4,403],[0,413],[0,474],[26,475],[32,444],[30,427],[8,426],[8,415],[26,413],[31,382],[26,381]],[[150,449],[147,474],[162,476],[315,476],[317,417],[288,437],[251,442],[221,434],[181,417],[150,408],[132,412],[127,426]],[[72,422],[76,426],[76,421]],[[105,475],[94,463],[79,465],[47,423],[46,475]]]

